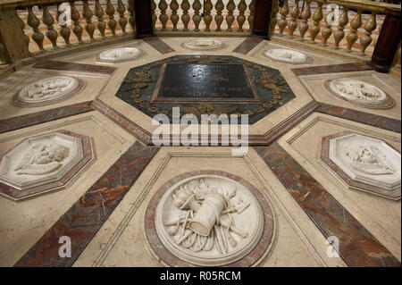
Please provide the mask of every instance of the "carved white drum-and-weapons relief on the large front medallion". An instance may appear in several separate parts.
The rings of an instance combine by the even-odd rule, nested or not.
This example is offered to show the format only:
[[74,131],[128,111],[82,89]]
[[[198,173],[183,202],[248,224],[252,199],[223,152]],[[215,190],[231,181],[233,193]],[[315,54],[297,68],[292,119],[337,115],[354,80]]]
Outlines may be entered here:
[[250,205],[236,196],[234,189],[210,187],[204,179],[197,186],[185,184],[172,193],[174,205],[182,212],[176,220],[165,222],[176,244],[193,252],[209,251],[215,247],[227,254],[236,247],[233,235],[247,238],[248,233],[238,229],[233,215],[241,214]]

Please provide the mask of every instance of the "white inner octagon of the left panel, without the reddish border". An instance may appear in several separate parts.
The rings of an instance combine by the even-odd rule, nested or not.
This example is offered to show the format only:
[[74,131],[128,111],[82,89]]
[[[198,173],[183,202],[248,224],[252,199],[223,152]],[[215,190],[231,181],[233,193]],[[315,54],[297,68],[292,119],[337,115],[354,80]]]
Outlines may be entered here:
[[0,181],[24,190],[60,180],[83,156],[81,138],[60,132],[28,138],[3,156]]

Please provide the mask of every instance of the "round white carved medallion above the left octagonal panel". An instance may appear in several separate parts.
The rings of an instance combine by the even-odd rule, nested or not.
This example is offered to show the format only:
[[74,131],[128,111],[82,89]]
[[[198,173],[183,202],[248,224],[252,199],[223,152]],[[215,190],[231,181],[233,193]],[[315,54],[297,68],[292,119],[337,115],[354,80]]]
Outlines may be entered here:
[[70,76],[54,76],[38,80],[22,88],[13,98],[16,105],[47,105],[80,90],[83,81]]

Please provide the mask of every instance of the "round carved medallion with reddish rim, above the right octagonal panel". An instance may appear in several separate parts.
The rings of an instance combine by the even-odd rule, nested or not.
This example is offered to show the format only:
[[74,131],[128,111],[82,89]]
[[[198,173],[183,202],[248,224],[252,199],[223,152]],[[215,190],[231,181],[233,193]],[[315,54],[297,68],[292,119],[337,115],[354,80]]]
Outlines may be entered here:
[[369,108],[388,108],[394,101],[380,88],[364,81],[339,78],[330,80],[331,93],[357,105]]

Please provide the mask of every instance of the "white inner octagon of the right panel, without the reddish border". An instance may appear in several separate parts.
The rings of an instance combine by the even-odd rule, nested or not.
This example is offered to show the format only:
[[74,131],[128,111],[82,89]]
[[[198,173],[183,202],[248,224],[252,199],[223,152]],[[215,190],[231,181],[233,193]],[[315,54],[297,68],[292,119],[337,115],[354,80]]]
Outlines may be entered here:
[[329,157],[352,180],[389,191],[400,188],[400,153],[381,139],[355,133],[331,138]]

